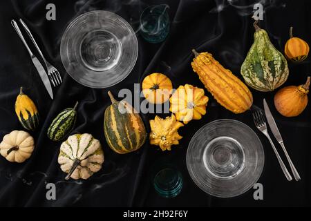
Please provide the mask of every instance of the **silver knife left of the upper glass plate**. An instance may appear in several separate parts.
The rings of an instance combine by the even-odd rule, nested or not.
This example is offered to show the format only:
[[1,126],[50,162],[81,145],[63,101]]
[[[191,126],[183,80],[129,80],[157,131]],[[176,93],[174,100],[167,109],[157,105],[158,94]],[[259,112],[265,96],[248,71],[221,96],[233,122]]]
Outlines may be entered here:
[[32,63],[37,68],[37,71],[41,77],[41,80],[44,83],[44,86],[46,86],[46,90],[48,90],[48,94],[50,95],[50,98],[53,99],[53,90],[52,90],[52,86],[50,85],[50,81],[48,80],[48,75],[46,74],[46,70],[44,70],[44,67],[41,65],[41,63],[37,59],[37,57],[35,57],[35,55],[33,55],[32,51],[30,50],[30,48],[27,44],[27,42],[23,38],[23,34],[21,34],[21,30],[19,30],[19,26],[17,25],[17,22],[13,19],[11,21],[11,24],[12,24],[13,28],[15,29],[15,31],[17,32],[17,34],[19,35],[19,38],[21,39],[21,41],[23,41],[23,44],[26,46],[26,48],[29,52],[29,55],[31,57]]

